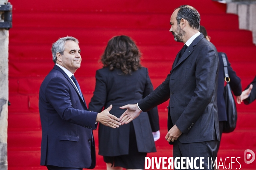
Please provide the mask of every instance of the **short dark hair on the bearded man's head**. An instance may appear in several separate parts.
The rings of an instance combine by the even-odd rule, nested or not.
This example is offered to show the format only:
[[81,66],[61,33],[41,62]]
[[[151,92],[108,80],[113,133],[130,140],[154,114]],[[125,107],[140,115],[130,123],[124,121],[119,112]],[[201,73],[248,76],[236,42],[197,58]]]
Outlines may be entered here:
[[177,18],[176,18],[177,24],[180,24],[180,20],[183,18],[189,22],[189,26],[199,31],[200,14],[198,13],[198,11],[194,7],[188,6],[188,5],[182,5],[178,8],[180,9],[177,13]]

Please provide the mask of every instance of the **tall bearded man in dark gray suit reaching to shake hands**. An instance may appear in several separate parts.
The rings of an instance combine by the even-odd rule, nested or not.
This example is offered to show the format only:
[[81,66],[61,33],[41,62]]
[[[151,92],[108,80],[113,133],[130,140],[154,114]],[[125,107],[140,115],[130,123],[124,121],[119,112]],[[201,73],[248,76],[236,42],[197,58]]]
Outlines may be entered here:
[[[120,107],[127,110],[119,119],[122,124],[128,123],[142,111],[170,99],[166,140],[174,144],[174,158],[204,157],[201,166],[208,169],[208,158],[215,159],[219,140],[218,52],[200,34],[200,14],[192,6],[176,8],[170,24],[175,40],[185,44],[175,58],[171,74],[137,104]],[[199,164],[196,161],[197,167]]]

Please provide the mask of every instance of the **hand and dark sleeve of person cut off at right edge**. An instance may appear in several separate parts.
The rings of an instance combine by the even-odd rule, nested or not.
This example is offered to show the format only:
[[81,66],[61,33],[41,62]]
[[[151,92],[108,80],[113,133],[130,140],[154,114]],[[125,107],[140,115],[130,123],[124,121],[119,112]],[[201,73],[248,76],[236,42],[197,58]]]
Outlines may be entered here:
[[249,105],[256,99],[256,76],[253,81],[245,88],[241,96],[236,98],[238,104],[244,102],[245,105]]

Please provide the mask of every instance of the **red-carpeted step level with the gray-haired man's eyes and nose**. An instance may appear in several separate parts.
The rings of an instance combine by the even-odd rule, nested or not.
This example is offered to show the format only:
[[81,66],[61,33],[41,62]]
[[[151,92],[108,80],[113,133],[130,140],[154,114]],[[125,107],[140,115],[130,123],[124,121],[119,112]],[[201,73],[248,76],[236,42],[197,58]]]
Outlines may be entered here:
[[[215,39],[215,36],[211,35],[212,39]],[[255,61],[253,53],[256,53],[255,45],[247,46],[232,46],[232,45],[218,45],[215,44],[218,51],[227,53],[227,57],[231,64],[233,62],[244,62],[244,58],[241,57],[241,51],[243,51],[243,56],[246,56],[248,61]],[[79,44],[81,48],[81,56],[83,59],[93,60],[98,62],[100,56],[105,50],[106,45],[83,45]],[[51,44],[13,44],[9,47],[9,50],[12,53],[9,54],[9,59],[21,59],[21,60],[52,60]],[[177,53],[182,48],[182,43],[177,45],[139,45],[138,48],[142,53],[142,61],[168,61],[171,64],[173,63]],[[86,53],[83,53],[86,51]],[[37,53],[36,56],[30,55],[31,53]],[[231,65],[232,66],[232,65]]]

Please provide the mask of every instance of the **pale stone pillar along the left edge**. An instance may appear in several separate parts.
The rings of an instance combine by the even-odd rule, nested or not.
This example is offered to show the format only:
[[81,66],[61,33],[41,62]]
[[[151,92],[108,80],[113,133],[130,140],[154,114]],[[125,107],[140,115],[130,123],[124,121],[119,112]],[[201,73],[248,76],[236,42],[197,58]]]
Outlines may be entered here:
[[[0,5],[7,1],[0,0]],[[0,28],[0,170],[7,170],[8,45],[9,31]]]

